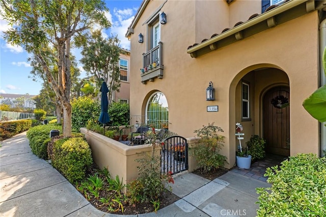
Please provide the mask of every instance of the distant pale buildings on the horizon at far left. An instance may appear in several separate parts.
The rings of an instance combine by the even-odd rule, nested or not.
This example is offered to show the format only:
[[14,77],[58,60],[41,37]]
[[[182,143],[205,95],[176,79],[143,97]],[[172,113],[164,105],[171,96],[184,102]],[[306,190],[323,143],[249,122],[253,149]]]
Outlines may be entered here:
[[10,94],[10,93],[1,93],[0,94],[0,103],[10,105],[10,107],[17,107],[21,99],[23,99],[23,108],[36,108],[35,101],[33,97],[36,95],[29,94]]

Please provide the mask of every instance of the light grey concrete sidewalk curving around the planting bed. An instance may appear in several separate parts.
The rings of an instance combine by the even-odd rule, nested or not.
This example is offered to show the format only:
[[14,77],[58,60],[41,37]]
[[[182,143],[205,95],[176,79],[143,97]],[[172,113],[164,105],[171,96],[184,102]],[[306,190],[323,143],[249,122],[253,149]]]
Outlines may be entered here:
[[[181,199],[139,216],[256,216],[255,188],[270,186],[234,172],[213,181],[193,173],[174,179],[172,192]],[[25,132],[2,142],[0,187],[0,216],[120,216],[94,208],[48,162],[34,155]]]

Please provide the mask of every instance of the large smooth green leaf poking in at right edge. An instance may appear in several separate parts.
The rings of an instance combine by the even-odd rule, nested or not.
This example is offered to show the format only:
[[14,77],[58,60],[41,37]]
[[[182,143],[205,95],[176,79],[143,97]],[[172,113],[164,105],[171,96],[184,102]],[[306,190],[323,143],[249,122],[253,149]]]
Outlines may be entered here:
[[303,102],[307,112],[320,122],[326,121],[326,85],[318,88]]

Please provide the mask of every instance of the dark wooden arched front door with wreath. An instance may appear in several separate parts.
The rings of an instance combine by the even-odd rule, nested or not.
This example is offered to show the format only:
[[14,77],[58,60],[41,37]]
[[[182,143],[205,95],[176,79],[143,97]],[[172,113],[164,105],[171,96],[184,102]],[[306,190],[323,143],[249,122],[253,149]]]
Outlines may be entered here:
[[290,89],[288,87],[270,89],[263,98],[263,135],[266,140],[267,153],[289,156],[290,106],[279,108],[280,106],[275,107],[271,103],[272,100],[284,99],[282,96],[290,102]]

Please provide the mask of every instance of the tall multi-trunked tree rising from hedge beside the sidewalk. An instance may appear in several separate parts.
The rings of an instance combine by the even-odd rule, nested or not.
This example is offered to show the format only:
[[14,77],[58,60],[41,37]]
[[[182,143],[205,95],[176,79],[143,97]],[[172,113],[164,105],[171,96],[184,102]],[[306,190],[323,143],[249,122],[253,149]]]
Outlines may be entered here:
[[[70,49],[75,40],[84,40],[93,26],[109,28],[101,0],[1,0],[0,10],[11,28],[4,38],[12,45],[33,53],[63,106],[63,135],[71,135]],[[55,49],[55,51],[52,50]],[[58,60],[52,74],[50,58]],[[58,77],[56,77],[58,76]]]

